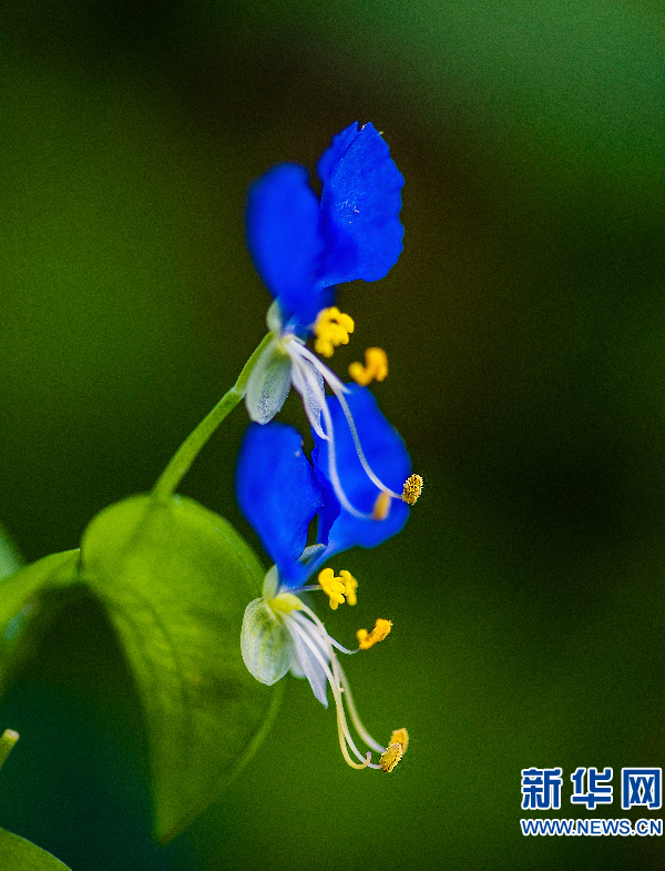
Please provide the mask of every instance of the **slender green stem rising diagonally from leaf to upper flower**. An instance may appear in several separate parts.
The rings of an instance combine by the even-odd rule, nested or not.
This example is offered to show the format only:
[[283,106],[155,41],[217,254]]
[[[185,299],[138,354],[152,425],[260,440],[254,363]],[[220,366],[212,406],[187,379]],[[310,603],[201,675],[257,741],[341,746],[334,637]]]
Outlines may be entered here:
[[245,363],[234,386],[224,394],[217,405],[215,405],[215,407],[203,418],[196,429],[190,433],[175,452],[153,487],[152,498],[155,502],[166,502],[173,496],[175,488],[187,474],[190,466],[198,456],[201,448],[213,435],[226,415],[243,399],[252,369],[256,365],[256,361],[260,356],[263,350],[273,341],[273,337],[272,333],[268,333],[267,336],[265,336],[260,345],[256,348],[254,354],[252,354],[247,363]]

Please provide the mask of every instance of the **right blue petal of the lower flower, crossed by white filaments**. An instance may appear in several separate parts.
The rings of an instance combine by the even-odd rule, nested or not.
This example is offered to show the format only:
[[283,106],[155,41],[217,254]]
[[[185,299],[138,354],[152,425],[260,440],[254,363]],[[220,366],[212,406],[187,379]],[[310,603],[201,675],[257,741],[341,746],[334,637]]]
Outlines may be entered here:
[[[378,478],[396,493],[401,493],[411,472],[411,459],[395,427],[379,411],[367,387],[350,386],[346,395],[365,457]],[[371,514],[379,489],[362,468],[344,415],[336,397],[328,402],[332,418],[337,472],[348,500],[364,514]],[[391,499],[390,512],[383,520],[354,516],[341,506],[334,494],[328,472],[328,443],[314,434],[316,447],[311,454],[314,467],[328,489],[326,505],[319,515],[317,540],[327,543],[326,557],[349,547],[376,547],[400,531],[409,517],[409,507],[401,499]],[[325,560],[318,560],[317,565]],[[313,569],[314,570],[314,569]]]

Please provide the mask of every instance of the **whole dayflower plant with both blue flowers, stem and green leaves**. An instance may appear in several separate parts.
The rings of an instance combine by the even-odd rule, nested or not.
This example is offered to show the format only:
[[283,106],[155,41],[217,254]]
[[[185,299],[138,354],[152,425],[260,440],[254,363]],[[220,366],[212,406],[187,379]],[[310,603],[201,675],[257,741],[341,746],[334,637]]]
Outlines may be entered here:
[[[270,332],[235,385],[185,438],[149,495],[98,514],[80,548],[19,569],[0,600],[8,673],[12,658],[22,660],[24,647],[32,647],[22,639],[32,639],[33,611],[43,622],[42,608],[60,607],[61,595],[82,586],[103,605],[141,697],[155,832],[163,841],[212,801],[268,728],[279,693],[254,678],[270,686],[290,670],[307,678],[325,706],[329,685],[341,751],[354,768],[392,771],[407,749],[406,729],[395,730],[386,747],[368,733],[338,658],[385,639],[390,620],[359,629],[358,647],[349,649],[306,600],[318,591],[332,609],[354,605],[351,573],[336,575],[326,564],[399,533],[422,486],[368,388],[386,377],[386,353],[369,348],[365,364],[349,367],[349,384],[320,359],[355,327],[334,305],[337,285],[381,278],[401,252],[403,179],[381,135],[357,123],[335,136],[318,175],[320,198],[294,164],[270,170],[249,192],[248,244],[274,303]],[[291,385],[311,426],[310,459],[299,433],[273,421]],[[243,399],[254,423],[241,447],[236,493],[275,563],[263,596],[248,606],[246,591],[256,590],[264,574],[260,560],[223,517],[176,495],[202,447]],[[369,748],[365,754],[347,718]]]

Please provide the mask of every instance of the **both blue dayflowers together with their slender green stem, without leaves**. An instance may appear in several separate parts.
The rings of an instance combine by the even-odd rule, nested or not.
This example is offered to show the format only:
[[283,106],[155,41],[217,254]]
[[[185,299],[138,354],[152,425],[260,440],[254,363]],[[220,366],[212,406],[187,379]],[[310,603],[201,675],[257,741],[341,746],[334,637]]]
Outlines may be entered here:
[[[370,631],[358,630],[358,648],[350,650],[330,637],[305,599],[318,590],[331,608],[354,605],[352,575],[345,569],[336,576],[325,564],[335,554],[376,547],[399,533],[422,487],[422,478],[411,474],[401,437],[368,389],[388,373],[386,353],[369,348],[365,364],[349,367],[348,384],[317,356],[330,357],[355,327],[334,305],[337,285],[381,278],[399,257],[403,179],[381,135],[371,124],[357,123],[334,138],[318,175],[320,198],[309,186],[307,171],[295,164],[274,168],[252,186],[247,240],[274,296],[270,332],[236,384],[181,445],[151,498],[155,506],[172,504],[203,445],[244,399],[253,423],[239,452],[236,495],[275,565],[265,576],[263,596],[245,609],[243,659],[268,686],[289,670],[307,677],[326,706],[329,685],[346,761],[391,771],[407,748],[407,732],[395,731],[387,747],[367,732],[337,654],[371,648],[392,624],[381,618]],[[314,350],[307,347],[310,340]],[[311,426],[311,459],[298,432],[273,421],[291,386]],[[308,547],[314,518],[316,543]],[[365,756],[354,742],[347,712],[369,747]],[[378,763],[371,761],[372,751],[380,753]]]

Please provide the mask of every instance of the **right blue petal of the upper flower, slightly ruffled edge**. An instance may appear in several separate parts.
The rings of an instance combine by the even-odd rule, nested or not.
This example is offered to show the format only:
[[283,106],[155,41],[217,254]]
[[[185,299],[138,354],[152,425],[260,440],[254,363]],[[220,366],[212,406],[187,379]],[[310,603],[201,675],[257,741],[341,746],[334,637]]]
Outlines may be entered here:
[[339,133],[319,162],[320,231],[326,239],[318,272],[321,285],[378,281],[402,250],[403,176],[371,124],[354,132],[351,124]]

